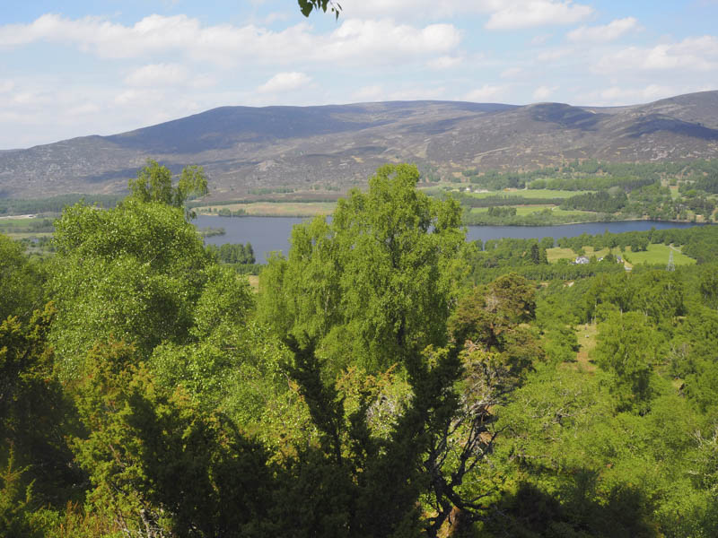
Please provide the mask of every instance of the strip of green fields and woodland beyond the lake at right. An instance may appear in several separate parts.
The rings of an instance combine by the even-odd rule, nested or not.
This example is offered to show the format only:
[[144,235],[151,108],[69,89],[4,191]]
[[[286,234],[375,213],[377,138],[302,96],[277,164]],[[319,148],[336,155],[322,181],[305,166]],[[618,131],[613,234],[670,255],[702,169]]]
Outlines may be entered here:
[[644,218],[712,222],[718,203],[718,160],[573,161],[523,173],[468,169],[454,180],[461,187],[432,192],[457,199],[465,208],[466,224],[545,226]]

